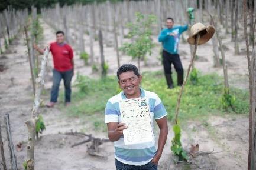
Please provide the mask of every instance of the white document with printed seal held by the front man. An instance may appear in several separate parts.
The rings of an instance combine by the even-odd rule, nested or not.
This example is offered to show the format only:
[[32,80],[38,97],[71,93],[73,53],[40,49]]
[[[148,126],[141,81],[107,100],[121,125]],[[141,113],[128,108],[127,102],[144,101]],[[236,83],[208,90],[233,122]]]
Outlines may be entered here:
[[124,129],[124,144],[140,144],[154,139],[148,98],[125,99],[119,102],[121,122]]

